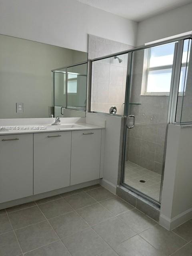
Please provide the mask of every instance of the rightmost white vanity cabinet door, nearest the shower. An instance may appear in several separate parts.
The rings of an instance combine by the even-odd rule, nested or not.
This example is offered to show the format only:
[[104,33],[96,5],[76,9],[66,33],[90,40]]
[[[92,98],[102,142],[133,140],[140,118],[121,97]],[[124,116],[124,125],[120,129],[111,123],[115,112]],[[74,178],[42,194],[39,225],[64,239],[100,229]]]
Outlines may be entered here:
[[70,185],[99,178],[100,153],[101,130],[72,132]]

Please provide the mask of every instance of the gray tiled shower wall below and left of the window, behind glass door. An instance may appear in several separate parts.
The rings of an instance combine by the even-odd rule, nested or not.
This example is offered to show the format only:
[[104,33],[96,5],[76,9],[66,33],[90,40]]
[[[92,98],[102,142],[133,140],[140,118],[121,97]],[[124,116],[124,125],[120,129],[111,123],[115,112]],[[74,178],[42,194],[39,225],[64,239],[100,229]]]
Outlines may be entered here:
[[141,95],[144,51],[134,53],[130,113],[136,125],[127,140],[127,159],[161,174],[168,114],[168,96]]

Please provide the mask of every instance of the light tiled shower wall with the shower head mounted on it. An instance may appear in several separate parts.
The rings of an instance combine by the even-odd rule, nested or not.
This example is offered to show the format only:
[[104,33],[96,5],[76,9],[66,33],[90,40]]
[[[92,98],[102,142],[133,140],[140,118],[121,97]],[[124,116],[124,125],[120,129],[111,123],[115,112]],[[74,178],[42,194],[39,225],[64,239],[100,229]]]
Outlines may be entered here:
[[[128,44],[89,35],[88,59],[103,57],[131,48],[133,47]],[[120,58],[122,59],[121,63],[114,57],[94,63],[92,67],[92,111],[109,113],[109,108],[115,105],[117,114],[124,114],[127,54],[121,55]]]

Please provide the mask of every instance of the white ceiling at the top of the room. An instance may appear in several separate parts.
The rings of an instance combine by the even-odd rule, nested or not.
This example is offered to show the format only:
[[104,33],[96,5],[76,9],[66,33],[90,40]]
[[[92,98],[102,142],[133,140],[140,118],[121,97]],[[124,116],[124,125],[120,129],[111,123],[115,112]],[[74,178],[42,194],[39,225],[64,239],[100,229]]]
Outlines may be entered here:
[[142,21],[146,18],[192,3],[192,0],[78,0],[106,12]]

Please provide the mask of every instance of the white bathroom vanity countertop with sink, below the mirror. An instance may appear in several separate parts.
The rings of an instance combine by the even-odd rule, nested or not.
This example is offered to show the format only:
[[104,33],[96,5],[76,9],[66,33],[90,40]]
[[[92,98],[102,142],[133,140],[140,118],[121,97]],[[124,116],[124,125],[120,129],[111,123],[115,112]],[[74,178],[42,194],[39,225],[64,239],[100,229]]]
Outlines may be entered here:
[[8,134],[25,134],[25,133],[40,133],[40,132],[62,132],[74,130],[95,130],[105,129],[104,126],[97,126],[87,123],[61,123],[60,125],[51,124],[30,124],[30,125],[8,125],[0,126],[0,135]]

